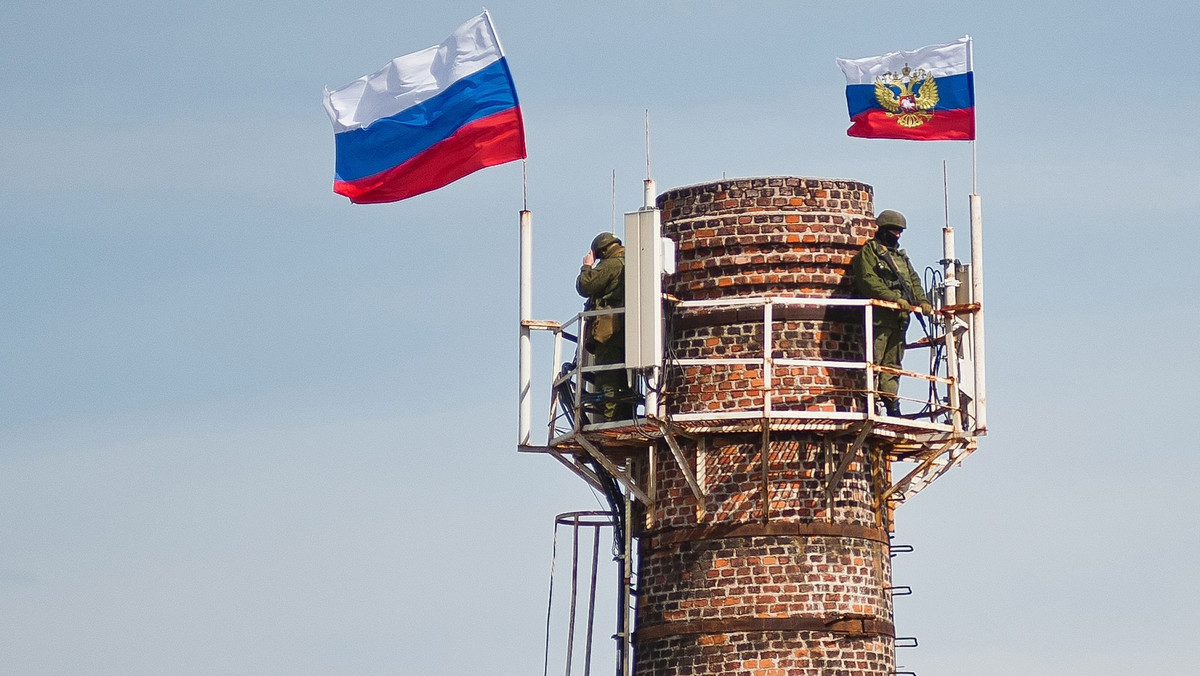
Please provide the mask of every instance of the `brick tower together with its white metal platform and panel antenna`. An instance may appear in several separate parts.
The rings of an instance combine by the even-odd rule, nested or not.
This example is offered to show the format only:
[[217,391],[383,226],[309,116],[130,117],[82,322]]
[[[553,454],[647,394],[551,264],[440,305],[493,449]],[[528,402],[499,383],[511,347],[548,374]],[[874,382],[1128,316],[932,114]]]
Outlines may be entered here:
[[[656,199],[652,187],[656,208],[626,215],[638,247],[626,307],[522,324],[554,333],[556,366],[576,345],[553,378],[546,445],[520,448],[554,456],[612,507],[618,676],[889,676],[893,508],[985,431],[959,375],[971,371],[979,304],[955,301],[959,282],[935,289],[931,369],[898,372],[926,399],[889,415],[875,406],[884,367],[872,364],[868,327],[875,307],[898,306],[852,298],[848,275],[875,234],[869,185],[732,179]],[[647,222],[654,237],[630,229]],[[943,234],[946,277],[970,273],[953,257],[953,229]],[[673,270],[647,273],[659,249],[674,250]],[[631,298],[630,280],[661,288]],[[604,312],[626,317],[625,364],[594,364],[578,347]],[[644,327],[661,335],[649,366],[638,360]],[[635,376],[642,394],[629,420],[588,408],[590,379],[612,369]],[[895,480],[892,467],[905,462],[913,468]]]

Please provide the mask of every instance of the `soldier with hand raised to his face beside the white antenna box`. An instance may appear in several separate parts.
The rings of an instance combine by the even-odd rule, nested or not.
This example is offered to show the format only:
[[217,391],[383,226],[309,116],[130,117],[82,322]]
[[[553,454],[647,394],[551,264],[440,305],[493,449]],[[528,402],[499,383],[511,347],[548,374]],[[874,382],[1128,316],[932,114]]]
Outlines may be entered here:
[[[594,267],[593,267],[594,265]],[[575,281],[575,289],[587,298],[584,310],[606,310],[625,306],[625,247],[612,233],[600,233],[592,240],[592,250],[583,257],[583,267]],[[620,364],[625,360],[625,323],[623,315],[592,317],[587,325],[583,348],[595,358],[594,364]],[[595,373],[595,389],[602,396],[605,420],[623,420],[632,414],[631,395],[624,370]]]

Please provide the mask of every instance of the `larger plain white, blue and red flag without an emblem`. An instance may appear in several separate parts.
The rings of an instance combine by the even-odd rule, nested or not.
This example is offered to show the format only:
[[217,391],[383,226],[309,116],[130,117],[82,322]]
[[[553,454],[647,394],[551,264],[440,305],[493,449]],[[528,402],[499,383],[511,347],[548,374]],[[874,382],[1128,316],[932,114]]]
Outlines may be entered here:
[[521,107],[487,12],[436,47],[325,90],[334,192],[396,202],[526,156]]

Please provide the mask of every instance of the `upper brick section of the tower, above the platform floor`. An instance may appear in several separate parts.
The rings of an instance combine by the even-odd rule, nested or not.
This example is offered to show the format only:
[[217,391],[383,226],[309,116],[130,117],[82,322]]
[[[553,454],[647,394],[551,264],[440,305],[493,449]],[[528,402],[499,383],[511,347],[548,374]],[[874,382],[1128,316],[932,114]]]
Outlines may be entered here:
[[[857,181],[774,177],[677,189],[659,197],[664,234],[676,241],[674,275],[664,287],[680,300],[745,295],[848,298],[846,273],[875,234],[871,187]],[[728,311],[673,313],[670,353],[761,355],[762,322]],[[761,312],[760,312],[761,316]],[[780,307],[775,358],[862,360],[862,313],[818,306]],[[762,375],[751,366],[668,370],[673,413],[762,407]],[[780,369],[773,406],[858,411],[860,371]]]

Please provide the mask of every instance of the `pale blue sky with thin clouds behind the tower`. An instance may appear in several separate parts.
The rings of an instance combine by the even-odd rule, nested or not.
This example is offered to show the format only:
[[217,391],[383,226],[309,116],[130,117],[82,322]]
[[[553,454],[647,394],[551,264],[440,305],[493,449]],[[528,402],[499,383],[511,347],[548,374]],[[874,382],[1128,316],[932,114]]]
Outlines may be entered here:
[[[661,190],[862,180],[935,261],[970,146],[847,138],[834,58],[972,35],[991,433],[898,512],[900,664],[1200,671],[1193,2],[487,8],[552,319],[647,109]],[[480,10],[0,8],[0,670],[540,671],[598,503],[515,451],[521,166],[354,207],[320,104]]]

